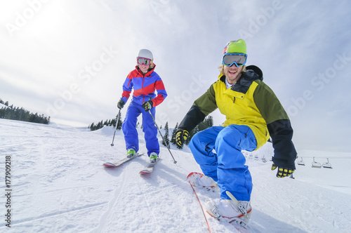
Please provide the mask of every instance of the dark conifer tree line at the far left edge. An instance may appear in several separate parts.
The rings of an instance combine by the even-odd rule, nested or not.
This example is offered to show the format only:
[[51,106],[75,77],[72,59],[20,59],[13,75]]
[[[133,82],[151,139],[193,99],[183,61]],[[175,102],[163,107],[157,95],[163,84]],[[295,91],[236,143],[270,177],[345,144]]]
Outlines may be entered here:
[[23,107],[14,107],[13,105],[8,106],[8,101],[0,99],[0,103],[6,107],[1,107],[0,109],[0,118],[1,119],[10,119],[15,121],[27,121],[38,124],[49,124],[50,116],[46,117],[44,114],[32,113]]

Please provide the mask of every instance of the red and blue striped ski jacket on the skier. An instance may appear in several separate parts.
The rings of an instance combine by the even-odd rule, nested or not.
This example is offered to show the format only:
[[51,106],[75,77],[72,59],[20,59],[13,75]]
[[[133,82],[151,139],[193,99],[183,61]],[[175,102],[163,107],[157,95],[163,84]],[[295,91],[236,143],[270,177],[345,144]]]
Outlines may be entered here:
[[[143,102],[152,99],[153,106],[159,105],[167,96],[164,82],[161,80],[159,74],[154,72],[154,68],[150,69],[146,74],[143,74],[138,65],[130,72],[123,84],[123,93],[121,100],[127,102],[131,91],[133,91],[133,102],[138,105],[143,105]],[[157,90],[157,95],[154,91]]]

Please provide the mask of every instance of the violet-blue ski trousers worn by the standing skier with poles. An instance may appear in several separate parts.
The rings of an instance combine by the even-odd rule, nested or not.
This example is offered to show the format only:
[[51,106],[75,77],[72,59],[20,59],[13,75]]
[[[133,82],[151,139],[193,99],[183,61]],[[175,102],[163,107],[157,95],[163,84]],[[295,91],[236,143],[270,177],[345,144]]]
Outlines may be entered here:
[[[154,107],[150,109],[152,116],[155,118],[156,110]],[[126,118],[122,124],[124,140],[126,141],[126,149],[135,149],[139,151],[138,131],[135,128],[138,121],[138,116],[143,115],[143,132],[145,137],[147,155],[152,152],[159,154],[159,140],[157,139],[157,128],[154,124],[150,112],[145,112],[145,109],[135,102],[131,102],[126,112]]]

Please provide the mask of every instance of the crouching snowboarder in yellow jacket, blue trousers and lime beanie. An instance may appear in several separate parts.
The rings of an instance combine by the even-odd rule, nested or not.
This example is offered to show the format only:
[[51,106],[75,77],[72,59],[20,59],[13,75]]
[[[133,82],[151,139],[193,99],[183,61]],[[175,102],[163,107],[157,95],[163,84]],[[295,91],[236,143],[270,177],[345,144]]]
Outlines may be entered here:
[[206,186],[209,177],[220,187],[220,199],[206,201],[208,213],[243,218],[244,222],[249,221],[250,215],[242,215],[226,193],[230,192],[251,213],[252,180],[241,150],[253,151],[272,138],[272,170],[278,168],[277,177],[289,177],[296,169],[289,116],[263,82],[263,72],[254,65],[246,67],[246,60],[246,42],[229,41],[223,51],[218,81],[195,100],[176,133],[177,144],[182,146],[189,132],[215,109],[226,116],[223,126],[195,134],[189,147],[206,175],[197,180],[198,184]]

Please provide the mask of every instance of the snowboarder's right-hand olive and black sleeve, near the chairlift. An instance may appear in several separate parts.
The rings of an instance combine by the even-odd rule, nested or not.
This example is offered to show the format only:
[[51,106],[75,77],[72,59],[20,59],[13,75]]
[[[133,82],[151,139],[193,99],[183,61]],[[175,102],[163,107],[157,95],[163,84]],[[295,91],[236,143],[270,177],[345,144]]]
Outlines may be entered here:
[[274,147],[274,157],[272,161],[276,166],[293,168],[297,157],[296,149],[293,145],[293,128],[288,114],[273,93],[263,81],[258,81],[258,86],[253,93],[260,114],[265,119],[270,137]]

